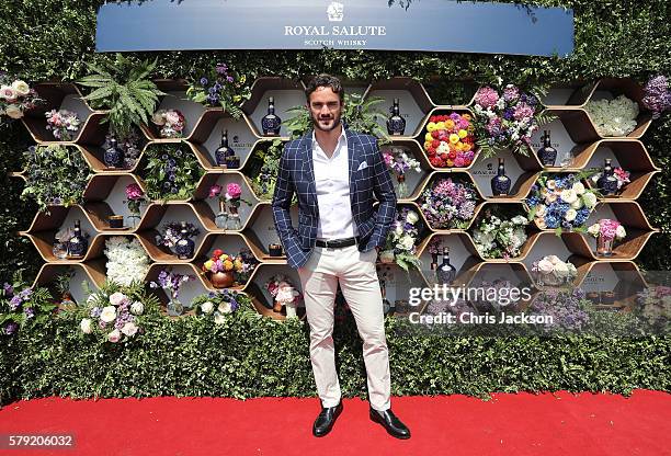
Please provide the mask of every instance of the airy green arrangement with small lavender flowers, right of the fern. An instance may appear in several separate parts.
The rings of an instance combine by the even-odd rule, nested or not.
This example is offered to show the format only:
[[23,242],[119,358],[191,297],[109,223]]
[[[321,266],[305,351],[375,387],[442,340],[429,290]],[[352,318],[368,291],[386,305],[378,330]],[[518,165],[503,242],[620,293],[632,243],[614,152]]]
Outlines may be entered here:
[[240,118],[240,105],[251,96],[244,75],[238,76],[226,64],[217,64],[214,69],[190,84],[186,95],[196,103],[220,105],[234,118]]

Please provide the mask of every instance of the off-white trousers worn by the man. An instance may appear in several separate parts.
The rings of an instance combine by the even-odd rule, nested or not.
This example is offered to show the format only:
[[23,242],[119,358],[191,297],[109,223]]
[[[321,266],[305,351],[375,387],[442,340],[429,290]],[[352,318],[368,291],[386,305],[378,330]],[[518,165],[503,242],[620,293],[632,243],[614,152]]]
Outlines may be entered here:
[[342,249],[316,247],[308,262],[298,269],[310,324],[310,361],[323,407],[336,407],[341,397],[332,335],[339,281],[363,340],[371,407],[375,410],[391,407],[389,351],[385,338],[382,292],[375,271],[376,259],[375,249],[362,253],[356,246]]

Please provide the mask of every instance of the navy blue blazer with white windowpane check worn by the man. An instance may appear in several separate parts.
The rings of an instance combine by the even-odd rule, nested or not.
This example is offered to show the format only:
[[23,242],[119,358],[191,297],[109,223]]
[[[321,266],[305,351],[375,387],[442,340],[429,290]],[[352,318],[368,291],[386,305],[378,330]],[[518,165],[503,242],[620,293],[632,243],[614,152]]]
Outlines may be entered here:
[[[384,246],[387,231],[396,218],[396,193],[377,148],[377,139],[345,128],[350,168],[350,202],[352,216],[359,229],[359,250],[367,252]],[[360,170],[365,161],[367,167]],[[289,207],[294,193],[298,197],[298,229],[292,225]],[[374,208],[377,197],[379,205]],[[287,142],[280,159],[277,181],[273,195],[275,229],[292,267],[303,266],[309,259],[317,240],[319,214],[312,164],[312,132]]]

